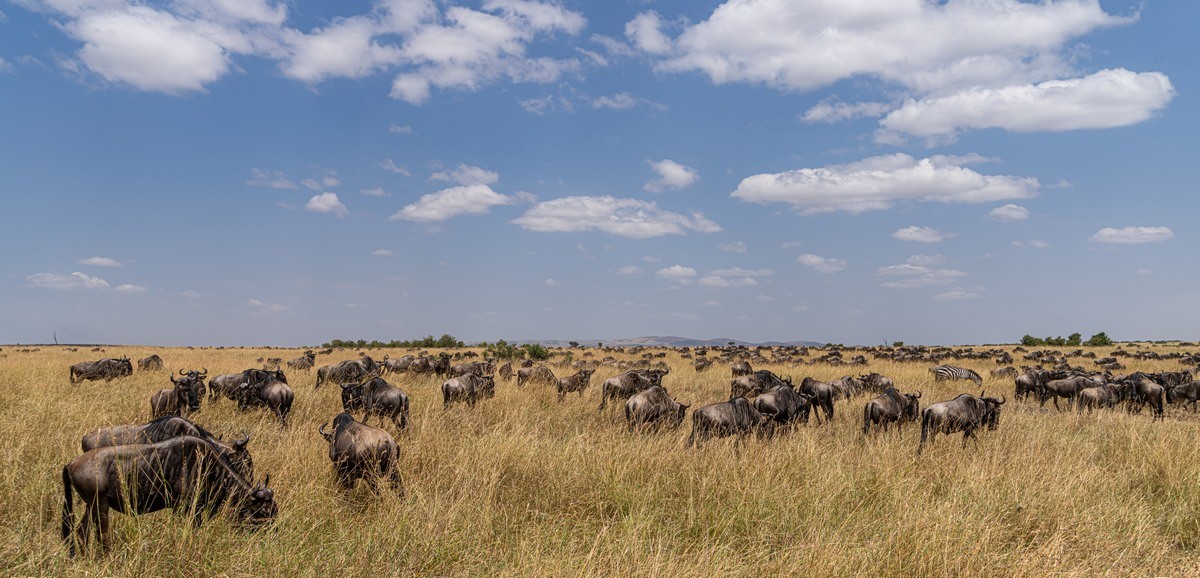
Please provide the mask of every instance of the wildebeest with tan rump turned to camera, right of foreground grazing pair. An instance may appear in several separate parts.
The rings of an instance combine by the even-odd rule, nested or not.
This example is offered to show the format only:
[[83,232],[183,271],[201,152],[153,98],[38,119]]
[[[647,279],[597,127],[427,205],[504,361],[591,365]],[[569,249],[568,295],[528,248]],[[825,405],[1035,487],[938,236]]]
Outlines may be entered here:
[[334,431],[325,432],[325,425],[317,428],[329,441],[329,459],[337,472],[337,482],[352,490],[359,480],[365,480],[372,492],[378,493],[378,481],[388,477],[391,489],[404,495],[400,481],[400,446],[390,433],[354,421],[350,414],[334,417]]

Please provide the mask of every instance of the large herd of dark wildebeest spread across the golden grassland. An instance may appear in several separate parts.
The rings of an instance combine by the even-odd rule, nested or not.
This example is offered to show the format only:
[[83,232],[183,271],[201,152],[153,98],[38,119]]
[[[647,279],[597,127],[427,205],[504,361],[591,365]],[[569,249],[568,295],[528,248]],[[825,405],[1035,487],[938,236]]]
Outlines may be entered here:
[[[689,357],[686,350],[684,357]],[[311,371],[314,359],[316,354],[308,350],[287,365],[293,371]],[[836,357],[827,355],[823,359],[829,361]],[[248,368],[211,379],[206,368],[179,369],[178,374],[169,374],[170,387],[151,397],[148,423],[106,427],[84,435],[80,444],[83,454],[62,468],[61,535],[71,544],[71,552],[74,553],[77,546],[86,544],[92,530],[101,544],[107,542],[109,510],[145,513],[172,508],[192,516],[196,523],[226,510],[236,523],[247,528],[274,519],[277,505],[268,484],[270,476],[262,482],[254,481],[253,460],[247,450],[250,436],[242,435],[227,442],[188,417],[200,410],[205,396],[209,403],[226,397],[236,402],[239,410],[265,408],[280,427],[288,427],[295,392],[284,372],[278,369],[280,361],[264,360],[263,368]],[[712,359],[703,361],[692,363],[696,372],[709,371]],[[336,414],[314,434],[328,442],[338,486],[353,489],[359,480],[364,480],[377,492],[378,482],[385,481],[389,488],[403,495],[401,445],[385,426],[390,421],[397,434],[410,426],[409,396],[383,375],[415,373],[442,378],[443,407],[450,410],[455,403],[475,407],[493,397],[497,371],[502,380],[515,377],[518,387],[551,386],[557,401],[563,403],[568,393],[583,396],[596,365],[576,362],[572,375],[557,378],[546,365],[530,362],[514,372],[511,365],[497,367],[493,360],[451,363],[448,354],[385,357],[382,362],[361,355],[317,368],[314,389],[324,384],[338,385],[342,405],[330,408]],[[809,423],[810,417],[818,426],[822,416],[826,423],[830,423],[838,401],[874,393],[876,397],[863,407],[863,434],[870,435],[872,428],[887,432],[889,427],[899,429],[906,422],[919,421],[919,456],[937,433],[962,433],[965,447],[968,440],[978,440],[980,429],[996,429],[1001,409],[1008,401],[1006,396],[961,393],[931,403],[922,411],[920,391],[904,392],[892,379],[878,373],[846,375],[830,381],[806,377],[797,386],[792,377],[767,369],[755,371],[745,359],[732,361],[728,367],[732,378],[730,397],[690,411],[689,447],[722,436],[736,436],[737,447],[737,439],[746,435],[769,439],[786,434],[791,428]],[[138,368],[161,369],[162,359],[154,355],[139,360]],[[82,380],[107,383],[132,372],[127,357],[103,359],[72,366],[68,378],[71,384]],[[944,363],[931,367],[930,373],[934,381],[983,384],[977,372]],[[1189,372],[1136,372],[1120,377],[1109,371],[1087,372],[1062,362],[1051,368],[1024,367],[1012,373],[1015,373],[1015,399],[1027,402],[1033,395],[1040,405],[1052,401],[1060,408],[1061,398],[1068,410],[1075,407],[1079,411],[1085,408],[1093,411],[1124,404],[1130,411],[1140,411],[1148,407],[1151,416],[1160,420],[1165,403],[1188,404],[1195,411],[1200,401],[1200,383],[1193,381]],[[602,383],[599,410],[605,410],[610,402],[623,402],[630,432],[678,427],[691,405],[668,393],[670,384],[665,385],[665,381],[670,381],[670,375],[671,369],[665,363],[628,368]],[[355,411],[362,411],[361,420],[354,417]],[[372,419],[379,420],[379,427],[368,425]],[[76,493],[84,504],[79,522],[73,513]]]

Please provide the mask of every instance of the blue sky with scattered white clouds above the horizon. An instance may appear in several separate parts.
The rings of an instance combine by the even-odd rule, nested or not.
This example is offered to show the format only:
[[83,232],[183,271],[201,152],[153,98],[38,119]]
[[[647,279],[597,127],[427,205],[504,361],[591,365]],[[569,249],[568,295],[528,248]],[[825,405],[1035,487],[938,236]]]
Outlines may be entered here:
[[1195,2],[0,2],[0,342],[1198,339]]

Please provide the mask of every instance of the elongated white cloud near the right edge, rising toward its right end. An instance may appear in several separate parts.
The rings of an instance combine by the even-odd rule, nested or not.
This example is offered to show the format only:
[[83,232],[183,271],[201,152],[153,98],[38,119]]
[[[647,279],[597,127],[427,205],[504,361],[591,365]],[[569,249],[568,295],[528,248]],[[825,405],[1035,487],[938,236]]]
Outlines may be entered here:
[[1105,70],[1084,78],[1003,88],[972,88],[948,96],[908,100],[880,125],[914,137],[953,139],[971,128],[1012,132],[1078,131],[1136,125],[1175,97],[1159,72]]

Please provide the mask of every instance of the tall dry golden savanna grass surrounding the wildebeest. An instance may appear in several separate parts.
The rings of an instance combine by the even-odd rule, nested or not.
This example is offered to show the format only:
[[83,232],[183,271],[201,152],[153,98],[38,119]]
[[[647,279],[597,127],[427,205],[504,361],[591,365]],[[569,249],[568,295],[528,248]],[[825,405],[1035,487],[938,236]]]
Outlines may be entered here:
[[[664,385],[677,399],[696,408],[728,397],[727,366],[696,373],[666,351]],[[151,353],[164,371],[67,381],[74,362]],[[557,403],[547,386],[498,381],[493,399],[449,411],[440,379],[389,377],[412,397],[413,423],[397,435],[404,499],[362,484],[336,489],[317,427],[340,411],[340,390],[313,390],[314,373],[288,372],[296,392],[288,429],[224,398],[205,399],[192,416],[227,436],[251,434],[258,476],[271,475],[280,505],[270,530],[244,532],[224,517],[194,528],[170,512],[114,513],[110,552],[71,560],[59,538],[60,471],[84,433],[148,421],[169,371],[206,367],[212,377],[300,354],[5,347],[0,355],[2,576],[1200,576],[1200,417],[1177,407],[1157,423],[1147,411],[1042,410],[1012,401],[1012,378],[989,378],[996,366],[986,360],[959,365],[983,374],[989,395],[1009,397],[1000,429],[966,450],[959,435],[938,436],[919,458],[914,425],[862,434],[870,395],[839,402],[832,425],[749,439],[734,452],[730,440],[684,447],[690,420],[631,434],[619,404],[596,411],[599,385],[616,367],[601,366],[582,398]],[[340,350],[317,363],[353,356]],[[755,368],[797,383],[864,372]],[[978,393],[970,383],[934,384],[928,368],[872,361],[865,371],[923,390],[923,408]]]

